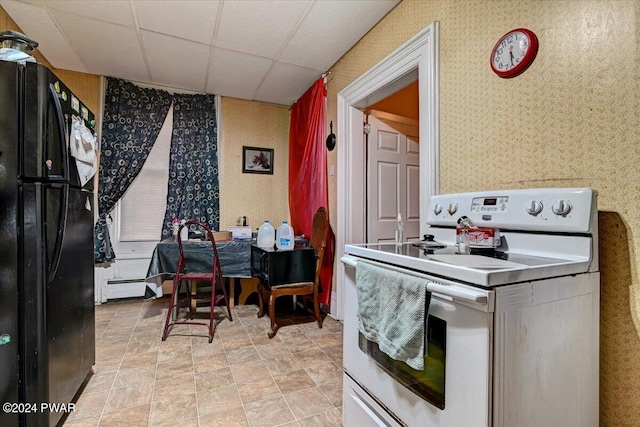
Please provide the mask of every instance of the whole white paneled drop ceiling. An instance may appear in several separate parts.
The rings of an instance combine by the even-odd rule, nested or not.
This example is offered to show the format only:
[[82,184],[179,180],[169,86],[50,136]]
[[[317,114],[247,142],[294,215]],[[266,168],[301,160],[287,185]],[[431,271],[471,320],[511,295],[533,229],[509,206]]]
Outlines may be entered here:
[[0,0],[56,68],[291,105],[400,0]]

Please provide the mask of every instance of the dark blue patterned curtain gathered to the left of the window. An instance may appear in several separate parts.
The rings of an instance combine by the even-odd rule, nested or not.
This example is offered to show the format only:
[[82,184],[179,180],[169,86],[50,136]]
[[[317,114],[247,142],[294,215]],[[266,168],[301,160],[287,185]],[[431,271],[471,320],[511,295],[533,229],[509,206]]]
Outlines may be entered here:
[[107,215],[138,175],[171,106],[171,94],[107,78],[102,123],[100,185],[95,227],[96,263],[115,259]]

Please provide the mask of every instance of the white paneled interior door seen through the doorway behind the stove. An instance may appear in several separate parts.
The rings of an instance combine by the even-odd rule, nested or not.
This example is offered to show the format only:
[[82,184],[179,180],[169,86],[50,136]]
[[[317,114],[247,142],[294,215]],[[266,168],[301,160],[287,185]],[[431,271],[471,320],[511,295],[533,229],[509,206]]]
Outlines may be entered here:
[[420,240],[419,137],[369,116],[367,241],[393,242],[398,214],[405,240]]

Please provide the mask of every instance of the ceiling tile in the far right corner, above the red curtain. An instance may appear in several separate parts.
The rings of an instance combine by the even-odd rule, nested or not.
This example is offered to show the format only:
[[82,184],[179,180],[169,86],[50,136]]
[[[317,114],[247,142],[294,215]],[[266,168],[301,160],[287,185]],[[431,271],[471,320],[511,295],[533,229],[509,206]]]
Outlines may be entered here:
[[322,72],[277,62],[264,79],[255,99],[274,104],[291,105],[320,78]]

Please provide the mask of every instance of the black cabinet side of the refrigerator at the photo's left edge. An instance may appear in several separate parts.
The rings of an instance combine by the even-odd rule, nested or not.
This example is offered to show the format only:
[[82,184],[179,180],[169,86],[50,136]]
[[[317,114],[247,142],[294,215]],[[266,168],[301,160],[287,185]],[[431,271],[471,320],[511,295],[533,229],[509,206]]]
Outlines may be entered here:
[[[18,215],[17,67],[0,61],[0,398],[18,402]],[[17,425],[18,415],[0,412],[0,425]]]

